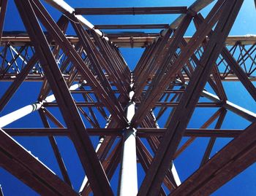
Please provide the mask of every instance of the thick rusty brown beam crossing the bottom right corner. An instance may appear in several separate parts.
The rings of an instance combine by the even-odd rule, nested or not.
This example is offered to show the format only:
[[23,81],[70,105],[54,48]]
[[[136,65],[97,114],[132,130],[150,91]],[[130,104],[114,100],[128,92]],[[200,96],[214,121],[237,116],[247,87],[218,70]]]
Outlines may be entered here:
[[171,193],[178,195],[211,195],[223,184],[256,161],[256,122],[244,133],[230,141],[227,146],[211,157],[195,171],[180,187]]

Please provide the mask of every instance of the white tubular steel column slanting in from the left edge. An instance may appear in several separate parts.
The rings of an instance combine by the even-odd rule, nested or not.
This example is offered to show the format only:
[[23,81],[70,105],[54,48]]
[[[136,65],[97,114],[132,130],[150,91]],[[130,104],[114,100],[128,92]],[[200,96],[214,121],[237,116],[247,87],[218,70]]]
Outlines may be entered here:
[[[80,87],[80,84],[75,84],[69,87],[69,90],[76,90],[78,89],[78,87]],[[12,122],[15,122],[15,120],[17,119],[25,117],[28,114],[31,114],[33,111],[39,110],[42,107],[43,103],[49,103],[55,100],[56,99],[54,95],[49,95],[47,98],[45,98],[45,100],[41,102],[30,104],[16,111],[12,111],[10,114],[6,114],[3,117],[0,117],[0,128],[3,128],[4,126],[9,125]]]

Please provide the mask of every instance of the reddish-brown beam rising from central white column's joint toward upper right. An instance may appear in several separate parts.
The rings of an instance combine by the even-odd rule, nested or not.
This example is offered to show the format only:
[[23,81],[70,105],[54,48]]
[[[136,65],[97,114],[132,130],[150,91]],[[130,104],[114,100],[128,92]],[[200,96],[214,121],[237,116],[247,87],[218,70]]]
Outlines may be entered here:
[[[159,99],[159,96],[161,95],[162,91],[166,89],[167,85],[169,85],[170,82],[175,80],[178,71],[180,71],[184,64],[187,62],[187,60],[189,60],[189,57],[192,56],[192,54],[194,54],[196,48],[200,46],[200,44],[203,42],[203,39],[207,36],[208,32],[211,31],[212,26],[214,26],[215,23],[217,23],[217,20],[219,20],[219,17],[222,13],[221,7],[222,1],[217,1],[213,9],[211,9],[211,12],[208,13],[206,20],[204,20],[204,23],[200,26],[200,28],[197,29],[195,34],[192,36],[193,38],[190,40],[187,46],[184,47],[184,50],[181,50],[181,54],[178,55],[178,58],[176,58],[176,60],[174,60],[173,63],[171,63],[170,60],[172,60],[173,55],[178,49],[178,46],[183,37],[180,37],[178,43],[174,42],[174,40],[173,42],[171,42],[169,50],[171,50],[172,52],[170,53],[170,56],[168,56],[168,59],[166,59],[164,63],[162,63],[162,70],[158,71],[159,74],[154,76],[154,79],[152,80],[150,87],[148,87],[148,92],[143,97],[143,103],[140,104],[138,113],[135,114],[135,118],[132,119],[133,125],[139,125],[143,117],[145,117],[147,113],[146,111],[152,108],[152,105]],[[184,17],[184,20],[185,19],[186,17]],[[192,16],[190,20],[192,20]],[[179,29],[184,28],[182,27],[182,25],[183,24],[181,23],[180,27],[176,30],[175,34],[178,34]],[[178,34],[178,36],[175,36],[175,39],[178,39],[179,36],[180,34]],[[176,46],[173,47],[173,44],[176,44]],[[168,68],[168,65],[173,66]]]

